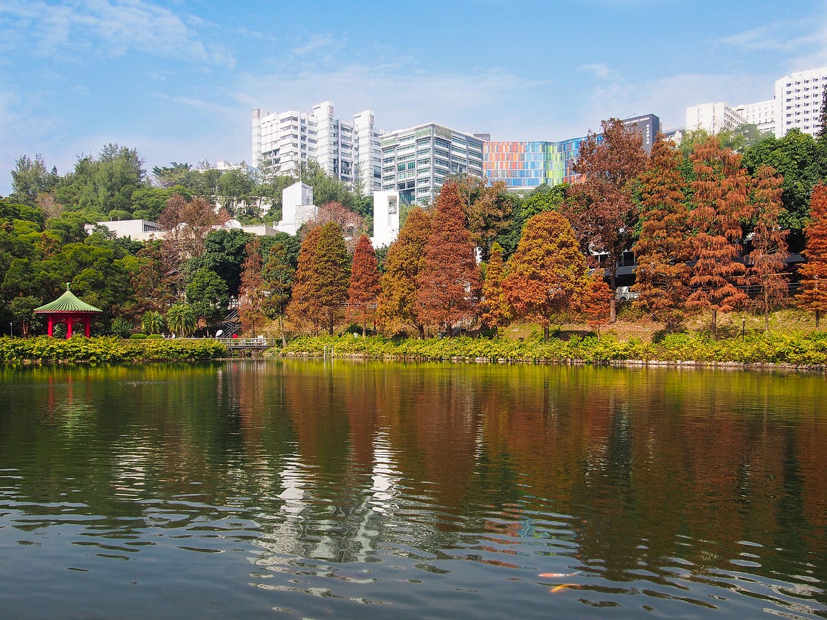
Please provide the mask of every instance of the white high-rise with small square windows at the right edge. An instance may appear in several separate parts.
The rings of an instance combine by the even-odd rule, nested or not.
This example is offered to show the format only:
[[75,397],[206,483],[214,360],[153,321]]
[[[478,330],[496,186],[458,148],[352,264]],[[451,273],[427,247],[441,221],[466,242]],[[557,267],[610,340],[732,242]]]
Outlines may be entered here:
[[827,67],[785,75],[775,84],[777,138],[791,129],[815,136],[821,131],[821,105],[825,100]]

